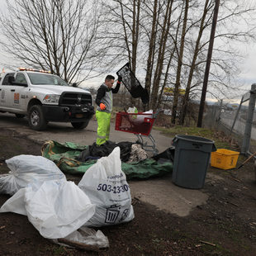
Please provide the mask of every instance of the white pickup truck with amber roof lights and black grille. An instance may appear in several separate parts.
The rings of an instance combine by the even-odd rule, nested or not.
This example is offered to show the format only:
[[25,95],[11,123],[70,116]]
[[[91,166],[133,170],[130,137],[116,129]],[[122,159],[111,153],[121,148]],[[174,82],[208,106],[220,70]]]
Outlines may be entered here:
[[33,130],[44,130],[49,121],[71,122],[73,128],[83,129],[94,107],[87,90],[42,70],[20,68],[0,80],[0,112],[27,116]]

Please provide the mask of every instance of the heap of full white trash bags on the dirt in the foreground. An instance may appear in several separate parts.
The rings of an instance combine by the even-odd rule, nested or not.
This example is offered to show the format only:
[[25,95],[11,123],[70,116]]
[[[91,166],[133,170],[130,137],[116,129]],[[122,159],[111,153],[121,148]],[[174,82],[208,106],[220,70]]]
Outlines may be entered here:
[[40,235],[55,243],[107,248],[107,237],[91,227],[117,225],[135,217],[120,152],[117,146],[107,157],[97,159],[78,186],[45,157],[21,154],[7,159],[11,171],[0,175],[0,192],[12,197],[0,212],[27,216]]

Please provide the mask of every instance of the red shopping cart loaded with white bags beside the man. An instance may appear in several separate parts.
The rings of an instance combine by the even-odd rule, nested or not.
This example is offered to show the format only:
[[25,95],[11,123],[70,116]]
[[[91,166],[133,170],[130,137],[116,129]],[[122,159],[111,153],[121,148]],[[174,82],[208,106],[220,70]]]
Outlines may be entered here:
[[[159,111],[153,113],[118,112],[116,113],[115,130],[133,133],[137,136],[143,149],[153,152],[153,154],[158,154],[159,150],[156,148],[155,140],[151,135],[151,130]],[[148,145],[148,142],[144,140],[145,137],[149,138],[152,145]]]

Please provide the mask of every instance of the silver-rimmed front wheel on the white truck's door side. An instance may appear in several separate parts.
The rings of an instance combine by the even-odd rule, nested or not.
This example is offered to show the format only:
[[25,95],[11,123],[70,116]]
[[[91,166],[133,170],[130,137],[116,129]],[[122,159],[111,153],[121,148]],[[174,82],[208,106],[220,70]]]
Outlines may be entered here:
[[32,106],[28,111],[28,123],[33,130],[44,130],[47,126],[45,116],[40,105]]

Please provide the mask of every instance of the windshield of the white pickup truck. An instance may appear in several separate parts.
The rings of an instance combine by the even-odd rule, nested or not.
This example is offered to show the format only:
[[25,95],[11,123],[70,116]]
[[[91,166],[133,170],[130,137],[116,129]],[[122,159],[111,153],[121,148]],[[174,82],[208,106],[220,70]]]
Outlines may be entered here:
[[46,73],[27,73],[32,84],[50,84],[69,86],[63,79],[54,74]]

